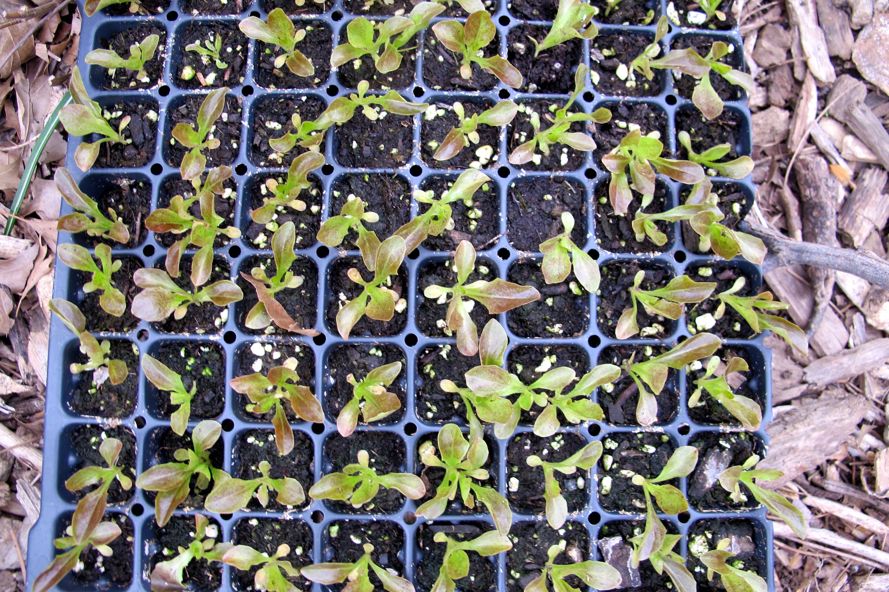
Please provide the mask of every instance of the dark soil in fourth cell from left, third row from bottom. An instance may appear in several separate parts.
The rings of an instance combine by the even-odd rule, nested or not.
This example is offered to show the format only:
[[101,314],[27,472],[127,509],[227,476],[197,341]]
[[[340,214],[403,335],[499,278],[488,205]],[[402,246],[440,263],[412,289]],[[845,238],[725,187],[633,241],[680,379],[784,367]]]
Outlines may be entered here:
[[[354,375],[357,382],[364,380],[364,376],[374,368],[386,366],[392,362],[401,362],[401,372],[397,378],[386,388],[393,392],[401,401],[401,407],[387,417],[373,422],[376,426],[385,423],[394,423],[404,417],[404,400],[406,386],[404,376],[406,373],[406,359],[404,351],[390,343],[343,343],[330,350],[327,354],[328,385],[324,390],[324,412],[327,417],[335,422],[340,411],[352,400],[353,387],[347,382],[348,375]],[[364,415],[358,416],[358,425],[368,425],[364,422]],[[372,428],[371,428],[372,429]]]

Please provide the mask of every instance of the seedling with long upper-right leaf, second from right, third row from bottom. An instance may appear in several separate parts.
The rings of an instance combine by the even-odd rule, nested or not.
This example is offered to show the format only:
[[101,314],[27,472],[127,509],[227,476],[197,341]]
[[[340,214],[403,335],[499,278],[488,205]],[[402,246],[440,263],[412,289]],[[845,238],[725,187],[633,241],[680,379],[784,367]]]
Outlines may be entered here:
[[[670,368],[678,370],[696,359],[712,356],[721,344],[722,340],[717,335],[699,333],[679,343],[672,350],[644,362],[634,364],[633,358],[636,356],[634,353],[624,369],[639,389],[639,401],[636,407],[636,420],[639,425],[647,427],[658,421],[658,401],[655,397],[663,391]],[[652,389],[651,392],[645,389],[646,384]]]

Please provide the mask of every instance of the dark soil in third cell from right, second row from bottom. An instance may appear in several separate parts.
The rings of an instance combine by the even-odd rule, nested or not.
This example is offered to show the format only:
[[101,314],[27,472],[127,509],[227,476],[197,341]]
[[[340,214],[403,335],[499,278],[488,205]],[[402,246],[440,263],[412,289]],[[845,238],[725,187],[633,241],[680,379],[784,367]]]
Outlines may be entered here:
[[[513,436],[506,450],[507,499],[510,505],[525,514],[546,511],[543,468],[529,467],[527,458],[536,454],[546,462],[561,462],[586,445],[586,440],[572,433],[556,434],[549,438],[534,436],[531,432]],[[562,496],[568,502],[568,511],[583,509],[589,499],[589,470],[577,470],[572,475],[556,470],[553,474]]]

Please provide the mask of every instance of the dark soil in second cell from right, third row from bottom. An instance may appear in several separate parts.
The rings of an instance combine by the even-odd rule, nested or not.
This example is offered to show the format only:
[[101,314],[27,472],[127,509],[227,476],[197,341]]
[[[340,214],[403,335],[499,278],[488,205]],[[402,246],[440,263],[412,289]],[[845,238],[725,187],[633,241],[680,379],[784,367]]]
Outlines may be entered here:
[[[622,366],[629,357],[636,353],[633,363],[652,359],[668,351],[668,348],[657,345],[612,345],[606,347],[599,354],[598,364],[613,364]],[[667,382],[660,395],[656,395],[658,402],[658,421],[656,424],[666,423],[676,416],[679,407],[678,372],[670,369]],[[608,385],[599,389],[598,403],[605,411],[605,421],[614,425],[638,425],[636,420],[636,407],[639,402],[639,391],[632,377],[626,372],[621,372],[621,377],[613,383],[613,388]],[[623,399],[621,401],[621,399]],[[618,405],[618,402],[621,405]]]

